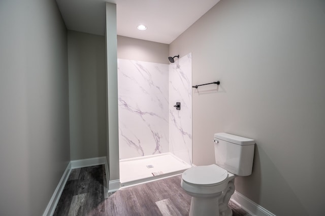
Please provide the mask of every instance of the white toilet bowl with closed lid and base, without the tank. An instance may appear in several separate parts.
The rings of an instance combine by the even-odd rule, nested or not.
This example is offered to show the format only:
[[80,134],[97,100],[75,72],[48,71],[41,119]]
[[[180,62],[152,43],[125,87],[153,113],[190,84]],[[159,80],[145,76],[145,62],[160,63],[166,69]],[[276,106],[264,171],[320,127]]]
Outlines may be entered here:
[[234,192],[228,196],[228,200],[224,198],[228,191],[232,191],[230,188],[235,188],[234,178],[235,175],[216,164],[195,166],[184,171],[181,187],[192,196],[189,215],[231,216],[228,202]]

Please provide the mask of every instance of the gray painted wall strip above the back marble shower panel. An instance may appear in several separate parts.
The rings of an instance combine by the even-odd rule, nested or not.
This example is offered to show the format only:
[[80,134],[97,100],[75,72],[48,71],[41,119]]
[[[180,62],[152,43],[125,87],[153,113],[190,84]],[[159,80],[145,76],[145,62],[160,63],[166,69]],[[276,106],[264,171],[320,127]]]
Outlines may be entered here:
[[117,35],[117,58],[169,64],[169,45]]

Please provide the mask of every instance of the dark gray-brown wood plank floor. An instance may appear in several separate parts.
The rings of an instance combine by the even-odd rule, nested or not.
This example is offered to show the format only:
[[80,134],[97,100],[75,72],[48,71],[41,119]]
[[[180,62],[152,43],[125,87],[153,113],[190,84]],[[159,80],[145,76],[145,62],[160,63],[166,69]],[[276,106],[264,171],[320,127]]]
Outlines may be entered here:
[[[188,215],[191,197],[180,186],[181,176],[104,193],[104,165],[77,168],[53,215]],[[234,216],[249,216],[230,201]]]

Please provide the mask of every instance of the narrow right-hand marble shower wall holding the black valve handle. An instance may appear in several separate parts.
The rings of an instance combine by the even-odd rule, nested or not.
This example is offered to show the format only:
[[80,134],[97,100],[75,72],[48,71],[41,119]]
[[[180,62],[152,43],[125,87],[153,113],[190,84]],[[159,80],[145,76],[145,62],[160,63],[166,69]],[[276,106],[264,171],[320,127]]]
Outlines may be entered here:
[[[173,105],[181,103],[181,109]],[[192,54],[169,65],[170,152],[192,165]]]

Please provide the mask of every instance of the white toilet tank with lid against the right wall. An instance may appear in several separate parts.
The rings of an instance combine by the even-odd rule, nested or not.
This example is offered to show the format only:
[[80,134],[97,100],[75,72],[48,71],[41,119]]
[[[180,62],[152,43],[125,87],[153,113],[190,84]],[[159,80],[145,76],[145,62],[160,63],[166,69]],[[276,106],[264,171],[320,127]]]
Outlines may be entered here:
[[252,173],[255,141],[236,135],[214,134],[215,162],[237,176]]

